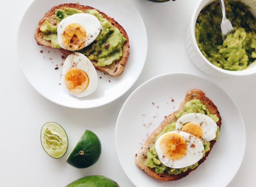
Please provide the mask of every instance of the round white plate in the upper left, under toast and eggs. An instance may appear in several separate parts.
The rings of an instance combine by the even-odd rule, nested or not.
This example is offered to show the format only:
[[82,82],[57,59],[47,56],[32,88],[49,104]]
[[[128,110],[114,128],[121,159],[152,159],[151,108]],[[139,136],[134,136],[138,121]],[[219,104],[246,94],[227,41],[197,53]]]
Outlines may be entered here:
[[[146,29],[140,14],[128,0],[81,1],[80,4],[106,13],[124,27],[130,40],[130,56],[120,76],[111,77],[97,71],[97,90],[86,97],[76,98],[65,92],[63,84],[59,85],[63,81],[63,54],[57,49],[38,46],[34,39],[39,20],[50,8],[62,3],[76,2],[77,0],[34,0],[20,22],[17,36],[18,59],[30,84],[50,101],[73,108],[98,107],[123,95],[140,76],[148,47]],[[40,53],[41,50],[43,53]],[[55,70],[56,65],[58,70]]]

